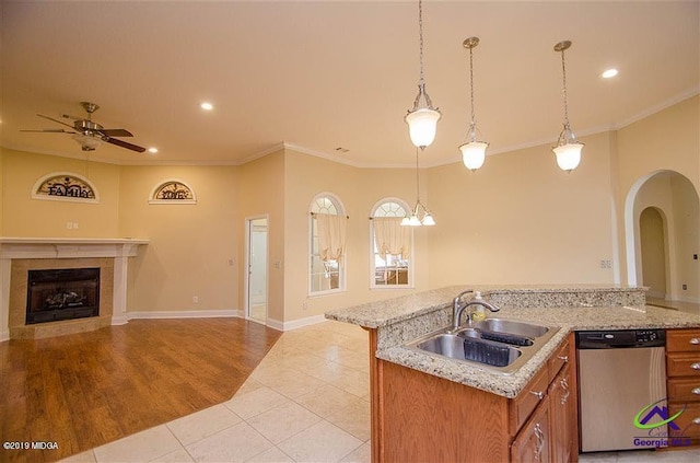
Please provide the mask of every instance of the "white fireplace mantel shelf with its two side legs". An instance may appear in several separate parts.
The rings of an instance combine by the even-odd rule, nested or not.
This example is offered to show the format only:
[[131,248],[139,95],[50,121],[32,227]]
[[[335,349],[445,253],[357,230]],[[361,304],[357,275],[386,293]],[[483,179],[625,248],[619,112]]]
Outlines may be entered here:
[[137,255],[147,239],[132,238],[0,238],[0,342],[9,339],[12,261],[56,258],[114,258],[112,324],[127,323],[128,258]]

